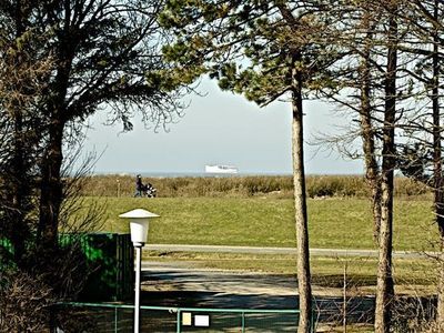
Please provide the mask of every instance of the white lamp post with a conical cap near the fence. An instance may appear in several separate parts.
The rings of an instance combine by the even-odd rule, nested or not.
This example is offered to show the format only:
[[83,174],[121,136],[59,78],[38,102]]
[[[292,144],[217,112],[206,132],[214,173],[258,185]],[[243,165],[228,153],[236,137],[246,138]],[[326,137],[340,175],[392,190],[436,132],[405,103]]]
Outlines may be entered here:
[[140,332],[140,271],[141,252],[147,242],[149,220],[158,214],[137,209],[120,214],[119,218],[130,220],[131,242],[135,249],[135,295],[134,295],[134,333]]

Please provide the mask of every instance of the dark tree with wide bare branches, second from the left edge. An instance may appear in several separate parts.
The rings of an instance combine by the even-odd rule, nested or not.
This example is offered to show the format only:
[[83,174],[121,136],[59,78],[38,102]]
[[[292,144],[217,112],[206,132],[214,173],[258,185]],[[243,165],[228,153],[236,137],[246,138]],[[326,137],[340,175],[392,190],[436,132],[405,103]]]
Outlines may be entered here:
[[47,120],[42,131],[38,240],[57,246],[63,200],[61,168],[69,127],[108,107],[112,120],[132,128],[132,112],[154,123],[171,120],[178,107],[171,84],[160,72],[160,1],[46,0],[32,18],[33,28],[50,34],[41,54],[52,57],[51,74],[38,97]]

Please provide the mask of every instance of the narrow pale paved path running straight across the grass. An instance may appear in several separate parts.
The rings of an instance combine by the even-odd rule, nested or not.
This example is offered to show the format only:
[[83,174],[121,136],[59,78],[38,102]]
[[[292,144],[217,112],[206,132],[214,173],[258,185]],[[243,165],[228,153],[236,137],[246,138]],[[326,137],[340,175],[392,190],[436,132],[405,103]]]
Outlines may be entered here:
[[[144,250],[167,252],[218,252],[218,253],[256,253],[256,254],[296,254],[294,248],[258,248],[258,246],[222,246],[222,245],[176,245],[147,244]],[[377,256],[376,250],[344,250],[344,249],[310,249],[311,255],[316,256]],[[436,252],[394,251],[394,258],[421,259],[437,256]]]

